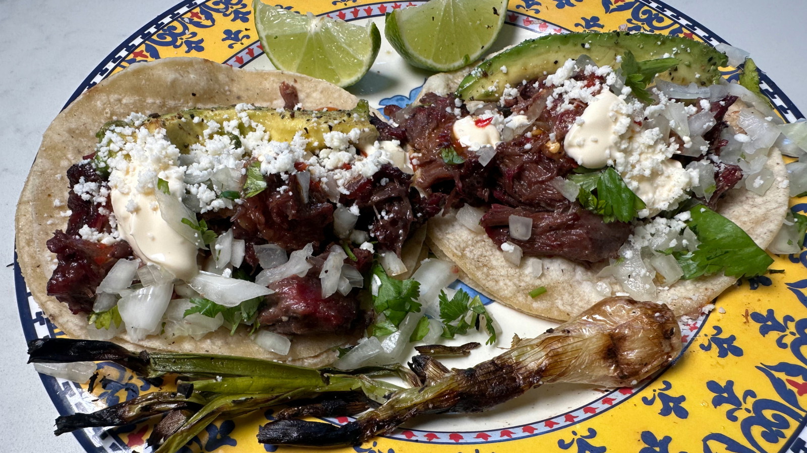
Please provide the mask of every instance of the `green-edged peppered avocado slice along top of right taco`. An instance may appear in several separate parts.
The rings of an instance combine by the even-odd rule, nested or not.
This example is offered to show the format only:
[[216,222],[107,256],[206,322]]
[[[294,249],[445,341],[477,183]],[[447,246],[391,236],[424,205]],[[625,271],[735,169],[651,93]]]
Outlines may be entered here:
[[497,101],[505,85],[516,86],[521,81],[554,73],[569,58],[585,54],[600,66],[607,64],[616,69],[617,56],[627,51],[638,61],[665,56],[681,60],[676,68],[658,77],[682,85],[691,82],[713,85],[721,77],[718,68],[728,64],[728,58],[708,44],[681,36],[620,31],[546,35],[528,39],[484,60],[462,79],[457,96],[466,101]]

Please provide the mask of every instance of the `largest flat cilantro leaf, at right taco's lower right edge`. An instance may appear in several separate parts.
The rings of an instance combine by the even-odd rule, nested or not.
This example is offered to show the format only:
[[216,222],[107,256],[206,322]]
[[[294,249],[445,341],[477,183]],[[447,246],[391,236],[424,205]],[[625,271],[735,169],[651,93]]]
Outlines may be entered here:
[[695,251],[673,253],[684,271],[684,280],[723,271],[726,276],[751,277],[767,271],[773,259],[754,239],[728,218],[706,206],[689,210],[687,226],[700,244]]

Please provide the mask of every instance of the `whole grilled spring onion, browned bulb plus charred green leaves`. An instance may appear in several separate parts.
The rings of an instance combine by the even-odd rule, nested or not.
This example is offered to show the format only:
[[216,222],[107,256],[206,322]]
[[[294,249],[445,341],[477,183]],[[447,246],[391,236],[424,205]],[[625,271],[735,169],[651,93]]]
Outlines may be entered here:
[[[259,442],[358,444],[418,415],[480,412],[541,384],[635,384],[670,364],[680,350],[678,323],[666,305],[608,297],[577,318],[534,339],[516,338],[504,354],[462,370],[449,370],[423,354],[412,359],[411,371],[399,365],[315,370],[222,355],[138,354],[114,343],[69,339],[34,340],[28,353],[34,363],[109,360],[149,380],[178,375],[178,392],[148,393],[93,414],[56,419],[56,434],[63,434],[165,414],[148,443],[161,443],[156,453],[169,453],[217,417],[281,404],[291,407],[261,427]],[[412,387],[401,389],[375,378],[393,374]],[[370,405],[380,406],[366,411]],[[343,426],[297,419],[362,412]]]

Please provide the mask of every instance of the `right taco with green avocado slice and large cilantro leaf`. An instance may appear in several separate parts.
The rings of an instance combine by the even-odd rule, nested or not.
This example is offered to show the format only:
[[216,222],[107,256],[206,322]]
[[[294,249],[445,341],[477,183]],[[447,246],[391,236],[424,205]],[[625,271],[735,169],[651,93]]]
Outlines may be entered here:
[[766,272],[788,175],[776,114],[722,81],[726,65],[690,39],[581,33],[433,77],[417,105],[387,111],[413,184],[447,198],[432,250],[480,292],[558,321],[613,295],[696,314]]

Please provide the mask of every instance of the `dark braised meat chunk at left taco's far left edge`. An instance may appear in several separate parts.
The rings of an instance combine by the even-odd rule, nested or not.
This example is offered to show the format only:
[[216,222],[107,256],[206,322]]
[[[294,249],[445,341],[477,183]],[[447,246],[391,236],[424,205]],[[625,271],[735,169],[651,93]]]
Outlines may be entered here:
[[73,314],[93,310],[95,289],[112,266],[121,258],[132,256],[126,241],[104,245],[56,231],[48,239],[48,250],[56,253],[56,270],[48,280],[48,294],[65,302]]

